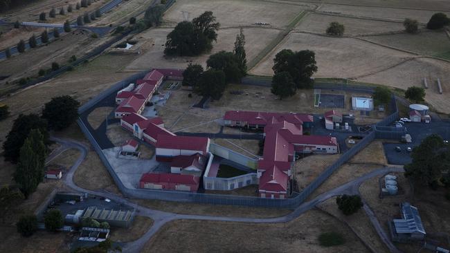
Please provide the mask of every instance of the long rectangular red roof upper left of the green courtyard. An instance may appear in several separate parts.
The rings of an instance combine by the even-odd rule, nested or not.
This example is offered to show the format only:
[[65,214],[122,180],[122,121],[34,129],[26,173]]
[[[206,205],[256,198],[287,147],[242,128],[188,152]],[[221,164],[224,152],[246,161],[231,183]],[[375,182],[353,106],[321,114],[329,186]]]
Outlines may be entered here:
[[208,149],[209,139],[206,137],[158,135],[156,148],[160,149],[184,149],[203,151]]

